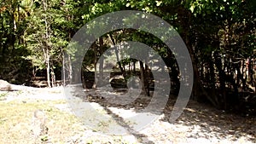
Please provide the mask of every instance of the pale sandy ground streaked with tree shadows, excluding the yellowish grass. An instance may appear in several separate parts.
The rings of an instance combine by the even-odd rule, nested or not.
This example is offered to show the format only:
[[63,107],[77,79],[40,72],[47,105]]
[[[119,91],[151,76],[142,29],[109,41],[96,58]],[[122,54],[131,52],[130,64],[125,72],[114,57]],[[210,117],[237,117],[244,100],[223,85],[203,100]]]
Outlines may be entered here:
[[[65,91],[66,90],[66,91]],[[164,112],[141,112],[144,101],[133,107],[116,106],[107,100],[118,99],[113,91],[104,89],[26,88],[8,92],[2,101],[67,101],[56,104],[62,112],[72,113],[80,119],[76,135],[66,143],[255,143],[255,118],[242,118],[190,101],[182,115],[168,121],[172,107]],[[99,95],[99,90],[106,95]],[[65,91],[65,92],[64,92]],[[1,92],[3,94],[4,92]],[[72,93],[72,95],[67,95]],[[5,93],[4,93],[5,94]],[[75,95],[75,96],[73,96]],[[122,98],[131,101],[134,98]],[[169,108],[169,109],[168,109]]]

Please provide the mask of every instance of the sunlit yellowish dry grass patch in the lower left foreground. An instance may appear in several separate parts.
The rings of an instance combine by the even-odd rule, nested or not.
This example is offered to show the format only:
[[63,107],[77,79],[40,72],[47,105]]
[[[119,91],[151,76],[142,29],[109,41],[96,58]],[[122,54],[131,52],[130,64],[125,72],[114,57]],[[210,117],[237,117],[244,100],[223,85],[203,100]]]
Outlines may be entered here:
[[49,141],[63,143],[79,131],[79,119],[54,107],[64,101],[0,101],[0,141],[1,143],[33,143],[32,114],[41,109],[47,116]]

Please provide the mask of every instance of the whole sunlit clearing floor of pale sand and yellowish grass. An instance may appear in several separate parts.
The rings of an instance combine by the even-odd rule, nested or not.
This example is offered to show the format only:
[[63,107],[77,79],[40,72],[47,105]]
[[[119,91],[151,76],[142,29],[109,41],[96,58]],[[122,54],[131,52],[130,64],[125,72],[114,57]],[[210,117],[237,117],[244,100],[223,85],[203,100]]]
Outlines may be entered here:
[[[62,89],[58,87],[1,92],[0,124],[1,131],[5,131],[1,140],[30,143],[31,128],[27,125],[30,125],[32,112],[40,108],[48,115],[49,141],[52,143],[256,142],[255,118],[227,114],[195,101],[190,101],[180,118],[171,124],[168,119],[172,112],[172,102],[164,113],[159,114],[160,110],[143,113],[142,105],[150,101],[148,97],[140,97],[140,101],[129,106],[112,105],[106,101],[106,97],[97,95],[97,89],[82,91],[75,97],[63,95]],[[136,114],[142,114],[143,118],[132,118]],[[155,117],[156,120],[147,122],[150,117]],[[140,123],[145,125],[143,129],[137,130],[137,126],[142,125]],[[109,133],[126,135],[106,135]]]

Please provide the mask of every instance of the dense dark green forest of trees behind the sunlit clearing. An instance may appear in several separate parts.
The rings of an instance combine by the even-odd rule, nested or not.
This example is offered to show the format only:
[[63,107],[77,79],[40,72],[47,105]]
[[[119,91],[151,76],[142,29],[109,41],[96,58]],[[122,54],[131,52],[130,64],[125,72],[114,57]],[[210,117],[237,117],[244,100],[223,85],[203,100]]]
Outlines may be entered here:
[[[183,38],[194,69],[193,99],[220,109],[255,112],[255,8],[254,0],[0,0],[0,79],[33,84],[43,78],[46,86],[54,87],[61,80],[62,66],[74,68],[63,60],[74,59],[76,51],[67,50],[67,45],[84,24],[102,14],[139,10],[166,20]],[[96,70],[104,51],[127,40],[154,48],[165,60],[174,91],[178,91],[177,61],[160,39],[147,32],[121,29],[98,37],[84,56],[83,72],[88,75]],[[125,79],[136,74],[137,68],[142,70],[138,74],[148,93],[149,64],[124,59],[116,67]],[[67,75],[75,77],[71,72]],[[88,88],[96,86],[88,83]]]

